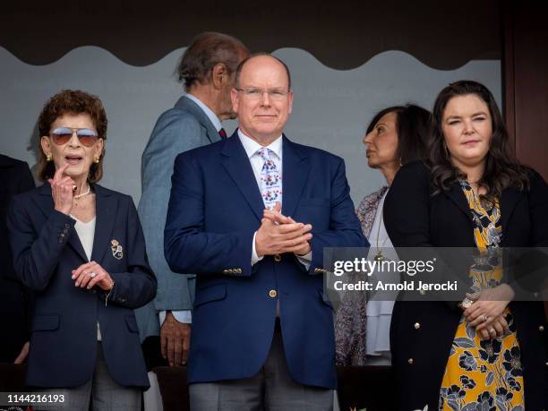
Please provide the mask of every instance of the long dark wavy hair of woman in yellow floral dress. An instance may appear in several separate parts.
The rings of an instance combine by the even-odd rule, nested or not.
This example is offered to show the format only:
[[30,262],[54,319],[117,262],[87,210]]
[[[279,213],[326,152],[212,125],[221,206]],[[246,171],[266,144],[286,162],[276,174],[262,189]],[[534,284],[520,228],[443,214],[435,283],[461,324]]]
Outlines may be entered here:
[[502,119],[501,112],[495,99],[483,84],[476,81],[461,80],[450,83],[440,91],[433,107],[432,137],[429,142],[428,163],[432,168],[432,185],[434,193],[449,190],[450,184],[459,178],[466,178],[463,173],[454,167],[447,153],[445,137],[443,135],[443,112],[451,98],[473,94],[489,107],[492,119],[492,138],[489,151],[485,158],[484,176],[478,184],[483,186],[487,193],[482,195],[483,201],[492,205],[495,198],[501,198],[502,192],[514,187],[525,190],[529,187],[527,167],[519,164],[514,157],[509,144],[509,136]]

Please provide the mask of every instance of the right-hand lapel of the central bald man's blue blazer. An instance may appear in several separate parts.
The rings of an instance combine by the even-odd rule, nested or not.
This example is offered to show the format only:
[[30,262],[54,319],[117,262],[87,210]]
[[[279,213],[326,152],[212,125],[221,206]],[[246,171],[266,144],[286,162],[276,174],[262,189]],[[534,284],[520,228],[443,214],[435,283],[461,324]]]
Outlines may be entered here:
[[308,179],[310,164],[308,158],[285,135],[282,158],[282,213],[293,216]]

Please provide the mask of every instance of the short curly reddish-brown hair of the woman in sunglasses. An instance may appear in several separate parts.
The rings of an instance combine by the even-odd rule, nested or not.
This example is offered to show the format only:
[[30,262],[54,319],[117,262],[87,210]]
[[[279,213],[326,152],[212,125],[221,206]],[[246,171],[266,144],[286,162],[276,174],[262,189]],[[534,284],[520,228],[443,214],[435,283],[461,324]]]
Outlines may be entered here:
[[[40,137],[49,135],[51,124],[65,114],[87,114],[95,125],[99,138],[107,140],[107,113],[105,113],[105,107],[103,107],[103,103],[97,96],[82,90],[62,90],[47,100],[39,116]],[[40,146],[40,139],[39,153],[38,176],[41,181],[46,181],[56,174],[56,166],[53,161],[47,161],[46,154]],[[104,146],[98,163],[91,163],[90,175],[88,176],[90,183],[97,183],[103,176],[103,158],[105,158]]]

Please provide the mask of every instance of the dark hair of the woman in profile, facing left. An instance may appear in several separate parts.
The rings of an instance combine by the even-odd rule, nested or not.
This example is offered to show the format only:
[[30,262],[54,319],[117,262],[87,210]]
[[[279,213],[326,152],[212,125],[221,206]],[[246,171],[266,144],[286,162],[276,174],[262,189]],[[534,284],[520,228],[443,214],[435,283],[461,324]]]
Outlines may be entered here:
[[375,124],[389,113],[396,113],[396,131],[398,133],[396,158],[399,158],[402,165],[423,159],[426,155],[426,144],[430,133],[432,118],[430,112],[414,104],[387,107],[372,118],[366,133],[371,133]]

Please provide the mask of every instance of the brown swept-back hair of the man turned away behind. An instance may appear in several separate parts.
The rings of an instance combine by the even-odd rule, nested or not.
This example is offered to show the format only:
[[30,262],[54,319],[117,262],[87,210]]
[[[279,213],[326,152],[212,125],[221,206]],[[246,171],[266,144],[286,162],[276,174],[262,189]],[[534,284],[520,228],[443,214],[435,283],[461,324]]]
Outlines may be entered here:
[[225,64],[228,73],[234,73],[245,54],[247,48],[240,40],[208,31],[192,40],[177,64],[176,73],[184,89],[189,90],[195,83],[209,83],[211,70],[217,64]]

